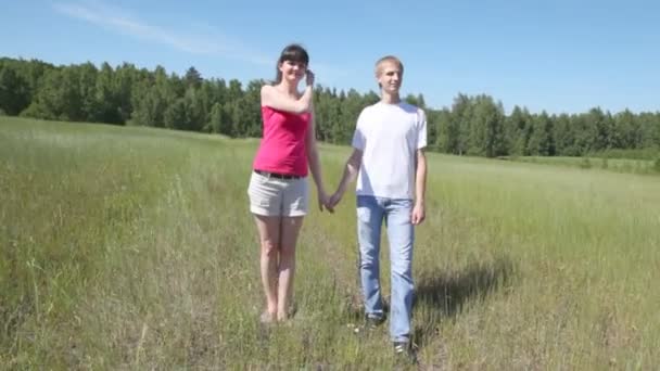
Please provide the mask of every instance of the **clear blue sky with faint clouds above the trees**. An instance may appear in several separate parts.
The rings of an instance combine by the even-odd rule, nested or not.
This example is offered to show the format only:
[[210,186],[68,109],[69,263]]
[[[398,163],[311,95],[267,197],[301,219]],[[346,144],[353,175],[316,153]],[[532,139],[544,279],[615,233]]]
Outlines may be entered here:
[[3,0],[0,56],[124,61],[204,77],[270,79],[289,42],[317,82],[376,90],[373,62],[398,55],[404,93],[432,107],[486,93],[532,112],[660,111],[656,1]]

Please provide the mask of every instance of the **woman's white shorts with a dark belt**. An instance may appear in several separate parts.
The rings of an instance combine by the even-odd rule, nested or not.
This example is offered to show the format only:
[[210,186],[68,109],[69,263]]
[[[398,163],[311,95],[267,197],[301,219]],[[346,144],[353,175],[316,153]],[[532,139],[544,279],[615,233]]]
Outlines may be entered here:
[[252,171],[250,212],[263,216],[304,216],[308,209],[307,178],[279,179]]

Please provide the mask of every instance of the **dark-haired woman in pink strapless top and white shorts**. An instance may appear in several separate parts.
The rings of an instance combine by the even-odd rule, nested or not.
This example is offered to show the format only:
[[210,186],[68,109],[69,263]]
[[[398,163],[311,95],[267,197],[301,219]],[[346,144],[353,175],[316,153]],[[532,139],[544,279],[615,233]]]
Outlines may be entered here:
[[[295,272],[295,244],[308,209],[307,169],[317,187],[319,209],[328,204],[314,130],[314,74],[299,44],[282,50],[272,85],[262,88],[263,139],[248,194],[261,241],[266,309],[262,322],[289,317]],[[300,81],[306,87],[301,93]],[[332,209],[328,208],[332,212]]]

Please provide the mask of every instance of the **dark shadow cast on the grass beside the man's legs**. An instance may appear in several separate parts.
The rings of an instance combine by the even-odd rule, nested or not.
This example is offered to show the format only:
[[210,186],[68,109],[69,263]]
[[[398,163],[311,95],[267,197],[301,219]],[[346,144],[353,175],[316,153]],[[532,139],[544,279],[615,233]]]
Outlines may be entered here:
[[422,271],[417,277],[412,306],[424,305],[430,314],[423,323],[414,321],[415,343],[421,347],[430,336],[440,335],[437,327],[442,318],[455,318],[468,302],[483,300],[491,293],[507,287],[515,272],[508,257],[477,261],[454,272]]

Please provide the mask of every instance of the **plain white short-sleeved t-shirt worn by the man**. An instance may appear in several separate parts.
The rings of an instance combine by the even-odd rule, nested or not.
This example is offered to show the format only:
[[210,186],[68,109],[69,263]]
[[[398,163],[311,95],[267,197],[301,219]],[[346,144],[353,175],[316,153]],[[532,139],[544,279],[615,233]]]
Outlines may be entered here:
[[423,110],[405,102],[365,107],[353,135],[353,148],[363,152],[357,195],[415,199],[416,153],[424,146]]

